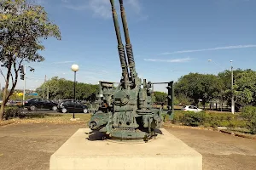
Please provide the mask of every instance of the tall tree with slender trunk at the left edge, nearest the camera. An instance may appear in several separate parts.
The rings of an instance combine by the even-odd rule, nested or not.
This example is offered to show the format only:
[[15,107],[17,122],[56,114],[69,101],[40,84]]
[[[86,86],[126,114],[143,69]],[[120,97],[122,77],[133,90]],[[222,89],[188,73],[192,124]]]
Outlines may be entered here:
[[61,40],[61,32],[58,26],[49,21],[42,6],[29,4],[26,0],[0,2],[0,61],[1,67],[7,72],[4,75],[1,70],[5,86],[0,120],[3,120],[4,106],[14,93],[20,65],[23,62],[44,61],[38,50],[44,50],[40,40],[48,37]]

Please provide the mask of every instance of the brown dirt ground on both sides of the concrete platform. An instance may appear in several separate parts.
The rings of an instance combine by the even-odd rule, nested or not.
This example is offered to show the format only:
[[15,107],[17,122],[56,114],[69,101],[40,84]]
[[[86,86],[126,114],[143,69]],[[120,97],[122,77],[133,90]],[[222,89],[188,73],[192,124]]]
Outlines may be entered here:
[[[12,124],[0,127],[0,169],[49,169],[49,157],[84,124]],[[203,156],[204,170],[253,170],[256,140],[229,134],[166,127]]]

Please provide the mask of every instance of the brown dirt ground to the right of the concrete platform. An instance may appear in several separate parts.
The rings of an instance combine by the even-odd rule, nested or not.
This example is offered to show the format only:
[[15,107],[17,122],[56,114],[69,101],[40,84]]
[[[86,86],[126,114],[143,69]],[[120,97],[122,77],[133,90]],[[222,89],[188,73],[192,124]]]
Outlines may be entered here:
[[256,140],[216,131],[168,128],[169,132],[203,156],[204,170],[253,170]]

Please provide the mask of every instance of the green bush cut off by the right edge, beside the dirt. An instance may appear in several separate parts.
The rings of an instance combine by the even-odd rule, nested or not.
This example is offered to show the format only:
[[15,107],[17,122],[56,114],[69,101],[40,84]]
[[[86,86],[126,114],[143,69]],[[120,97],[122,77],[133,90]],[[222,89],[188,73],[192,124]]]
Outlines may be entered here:
[[256,133],[256,107],[248,105],[243,108],[242,116],[247,120],[247,127],[251,133]]

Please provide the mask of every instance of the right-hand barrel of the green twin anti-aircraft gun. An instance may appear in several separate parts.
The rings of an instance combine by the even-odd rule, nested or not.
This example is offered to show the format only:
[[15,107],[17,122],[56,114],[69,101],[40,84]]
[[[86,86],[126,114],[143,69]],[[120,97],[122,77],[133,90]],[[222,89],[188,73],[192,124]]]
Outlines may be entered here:
[[128,24],[127,24],[127,20],[126,20],[126,14],[125,14],[123,0],[119,0],[119,3],[120,3],[120,11],[121,11],[123,29],[125,32],[126,54],[127,54],[127,58],[128,58],[131,76],[134,76],[136,74],[135,62],[134,62],[134,57],[133,57],[133,51],[132,51],[132,46],[131,46],[131,41],[130,41],[130,36],[129,36],[129,30],[128,30]]

